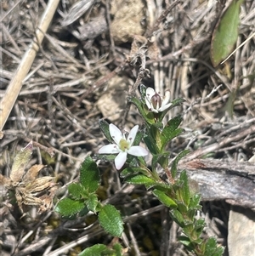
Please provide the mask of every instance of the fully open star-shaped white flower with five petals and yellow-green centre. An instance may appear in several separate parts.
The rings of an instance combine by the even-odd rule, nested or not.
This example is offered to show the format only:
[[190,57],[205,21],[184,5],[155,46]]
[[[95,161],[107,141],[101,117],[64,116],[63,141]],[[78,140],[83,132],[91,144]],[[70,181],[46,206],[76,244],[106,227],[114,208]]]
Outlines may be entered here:
[[139,145],[133,145],[133,141],[138,132],[139,126],[134,126],[130,133],[127,136],[127,139],[124,134],[117,128],[114,124],[109,125],[109,131],[111,138],[115,141],[116,144],[104,145],[99,149],[99,154],[118,154],[115,158],[116,169],[119,170],[122,168],[124,163],[127,160],[127,154],[133,156],[147,156],[148,151]]

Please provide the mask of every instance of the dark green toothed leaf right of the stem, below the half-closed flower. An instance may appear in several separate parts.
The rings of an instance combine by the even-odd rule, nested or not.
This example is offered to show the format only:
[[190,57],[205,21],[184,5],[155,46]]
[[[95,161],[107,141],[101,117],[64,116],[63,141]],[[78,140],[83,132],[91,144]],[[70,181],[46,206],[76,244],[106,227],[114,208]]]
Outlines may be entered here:
[[170,121],[167,122],[167,125],[165,126],[165,128],[163,128],[161,133],[161,151],[171,139],[177,137],[183,132],[182,128],[178,128],[182,120],[183,118],[181,116],[178,116],[173,117]]

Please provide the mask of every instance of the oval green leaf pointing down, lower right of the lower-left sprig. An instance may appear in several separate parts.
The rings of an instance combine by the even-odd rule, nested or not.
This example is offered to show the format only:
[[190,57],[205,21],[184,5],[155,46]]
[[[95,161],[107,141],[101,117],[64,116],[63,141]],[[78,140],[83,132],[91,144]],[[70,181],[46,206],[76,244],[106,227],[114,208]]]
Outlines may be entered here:
[[111,236],[122,236],[124,228],[121,214],[111,204],[107,204],[100,209],[99,223]]

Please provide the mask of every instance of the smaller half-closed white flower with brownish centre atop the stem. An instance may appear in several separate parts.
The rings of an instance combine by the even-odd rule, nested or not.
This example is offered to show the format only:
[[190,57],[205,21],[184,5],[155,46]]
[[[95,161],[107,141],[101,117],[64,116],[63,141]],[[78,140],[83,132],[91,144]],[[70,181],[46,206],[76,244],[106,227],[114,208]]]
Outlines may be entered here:
[[160,94],[156,94],[155,90],[153,88],[147,88],[146,89],[146,97],[145,102],[149,109],[149,111],[153,112],[162,112],[165,111],[172,103],[170,102],[170,91],[166,91],[166,94],[164,97],[161,97]]

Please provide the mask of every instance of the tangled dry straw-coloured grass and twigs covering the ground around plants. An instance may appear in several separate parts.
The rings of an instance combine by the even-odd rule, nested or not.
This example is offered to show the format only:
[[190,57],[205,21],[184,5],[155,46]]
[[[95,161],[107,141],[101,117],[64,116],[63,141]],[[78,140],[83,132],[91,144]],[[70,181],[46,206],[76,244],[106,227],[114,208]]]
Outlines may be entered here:
[[[41,35],[43,42],[36,43],[30,67],[26,53],[32,40],[41,37],[37,26],[50,4],[58,9]],[[241,207],[241,213],[255,208],[254,165],[247,163],[255,140],[255,40],[213,68],[210,40],[223,9],[220,1],[210,0],[2,1],[0,100],[7,88],[12,97],[18,95],[13,107],[1,105],[1,111],[10,111],[6,122],[1,121],[2,174],[8,176],[15,151],[33,140],[31,165],[47,164],[42,175],[56,178],[55,200],[63,198],[84,157],[94,156],[105,144],[100,118],[127,130],[141,124],[135,109],[125,115],[125,99],[130,86],[140,82],[139,68],[144,65],[150,76],[140,77],[142,83],[161,93],[170,89],[172,100],[186,100],[178,109],[184,112],[186,132],[169,149],[173,156],[184,148],[192,152],[181,168],[201,185],[205,236],[217,236],[226,246],[224,255],[235,255],[229,253],[227,241],[229,213],[233,205]],[[237,46],[254,33],[254,24],[255,3],[245,0]],[[155,43],[149,45],[148,38]],[[140,60],[144,45],[150,59]],[[17,77],[19,65],[27,71]],[[22,83],[21,90],[14,82]],[[198,160],[201,156],[210,156],[211,162]],[[123,185],[109,163],[99,166],[101,200],[127,216],[122,237],[127,255],[187,255],[167,209],[143,187]],[[62,220],[54,211],[39,215],[31,208],[20,219],[4,188],[0,211],[1,255],[77,255],[94,243],[113,242],[96,222],[90,225],[94,216]]]

